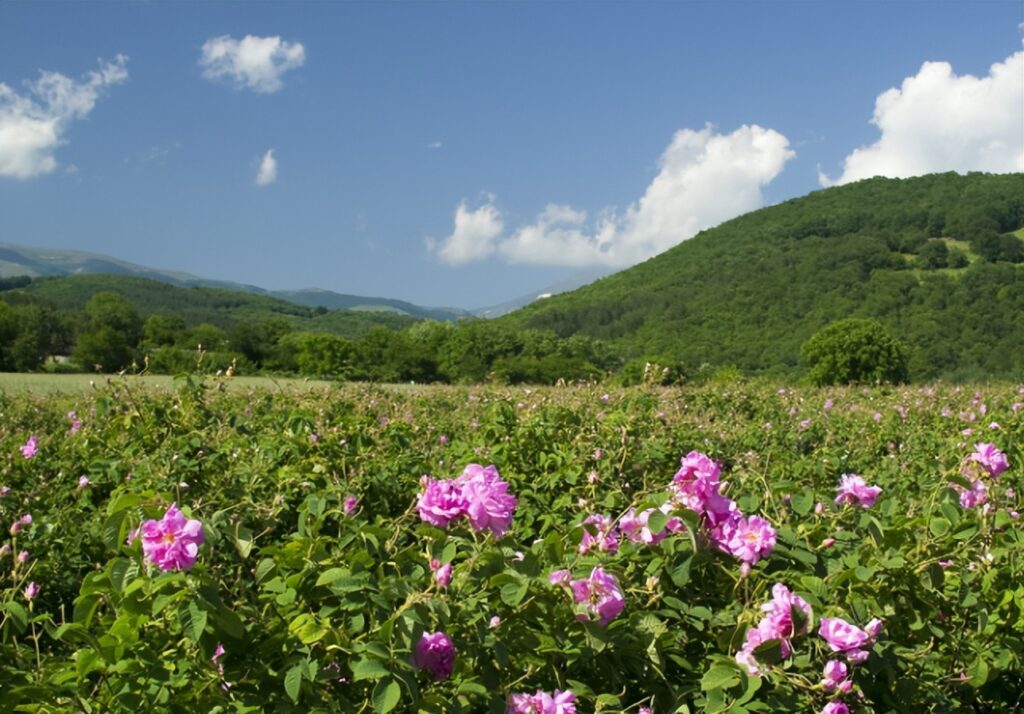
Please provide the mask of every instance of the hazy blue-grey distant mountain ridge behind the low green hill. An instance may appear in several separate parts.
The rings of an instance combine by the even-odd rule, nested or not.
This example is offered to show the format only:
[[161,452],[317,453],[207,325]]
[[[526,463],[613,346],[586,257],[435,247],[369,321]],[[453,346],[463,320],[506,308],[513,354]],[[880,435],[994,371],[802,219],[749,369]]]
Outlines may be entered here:
[[184,288],[218,288],[266,295],[307,307],[388,311],[419,320],[455,322],[460,318],[471,316],[469,311],[457,307],[422,307],[402,300],[345,295],[316,288],[268,291],[254,285],[209,280],[188,272],[147,267],[97,253],[28,248],[10,243],[0,243],[0,278],[81,275],[131,276]]

